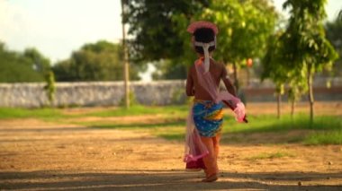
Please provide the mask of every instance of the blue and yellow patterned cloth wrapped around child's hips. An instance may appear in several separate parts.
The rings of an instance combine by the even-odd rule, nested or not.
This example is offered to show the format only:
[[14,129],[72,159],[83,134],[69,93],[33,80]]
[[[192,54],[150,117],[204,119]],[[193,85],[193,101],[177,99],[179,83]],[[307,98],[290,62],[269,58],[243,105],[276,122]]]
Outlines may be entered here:
[[194,100],[193,122],[201,136],[220,134],[223,124],[223,104],[211,100]]

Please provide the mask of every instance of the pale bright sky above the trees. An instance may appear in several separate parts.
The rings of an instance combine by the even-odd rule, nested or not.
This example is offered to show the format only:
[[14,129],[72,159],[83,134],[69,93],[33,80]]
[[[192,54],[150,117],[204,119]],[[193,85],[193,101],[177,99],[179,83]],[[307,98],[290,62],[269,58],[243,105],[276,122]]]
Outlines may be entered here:
[[[274,3],[286,17],[284,1]],[[342,0],[328,0],[329,21],[341,9]],[[52,63],[85,43],[121,37],[121,0],[0,0],[0,41],[16,51],[37,48]]]

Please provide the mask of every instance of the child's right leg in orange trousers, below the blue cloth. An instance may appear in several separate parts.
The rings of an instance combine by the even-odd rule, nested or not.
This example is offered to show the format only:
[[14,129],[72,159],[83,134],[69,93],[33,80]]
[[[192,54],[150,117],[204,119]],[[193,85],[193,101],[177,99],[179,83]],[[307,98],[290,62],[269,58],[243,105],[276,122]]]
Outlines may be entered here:
[[215,157],[215,151],[213,147],[213,142],[211,137],[203,137],[201,136],[202,143],[208,148],[209,154],[203,157],[203,162],[205,165],[205,174],[206,177],[210,177],[213,174],[218,173],[217,161]]

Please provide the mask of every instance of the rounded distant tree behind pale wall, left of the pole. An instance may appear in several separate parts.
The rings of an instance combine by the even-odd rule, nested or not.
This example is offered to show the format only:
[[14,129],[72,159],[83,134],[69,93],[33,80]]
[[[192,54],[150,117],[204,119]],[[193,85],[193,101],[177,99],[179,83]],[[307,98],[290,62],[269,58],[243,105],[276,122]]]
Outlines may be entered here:
[[[85,44],[69,59],[59,61],[52,70],[59,82],[122,81],[121,45],[104,40]],[[138,80],[138,72],[139,67],[131,65],[131,79]]]

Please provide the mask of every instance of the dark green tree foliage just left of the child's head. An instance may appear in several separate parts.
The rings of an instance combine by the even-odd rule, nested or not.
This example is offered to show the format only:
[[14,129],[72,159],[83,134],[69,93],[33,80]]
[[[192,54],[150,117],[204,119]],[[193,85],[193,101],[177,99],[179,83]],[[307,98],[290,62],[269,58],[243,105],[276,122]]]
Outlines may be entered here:
[[[126,0],[128,5],[125,23],[129,24],[134,59],[157,61],[173,59],[184,53],[184,39],[179,38],[173,17],[184,15],[190,20],[193,14],[210,4],[210,0]],[[186,29],[186,28],[185,28]],[[185,30],[183,29],[183,30]]]

